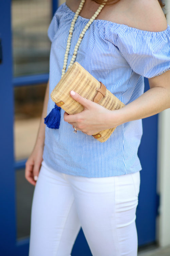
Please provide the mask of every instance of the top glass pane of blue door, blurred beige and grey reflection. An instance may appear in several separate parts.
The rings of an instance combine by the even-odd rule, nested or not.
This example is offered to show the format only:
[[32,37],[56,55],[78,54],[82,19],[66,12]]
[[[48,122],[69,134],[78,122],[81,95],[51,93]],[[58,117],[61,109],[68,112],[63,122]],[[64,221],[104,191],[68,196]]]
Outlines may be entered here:
[[50,0],[12,0],[14,76],[49,72]]

